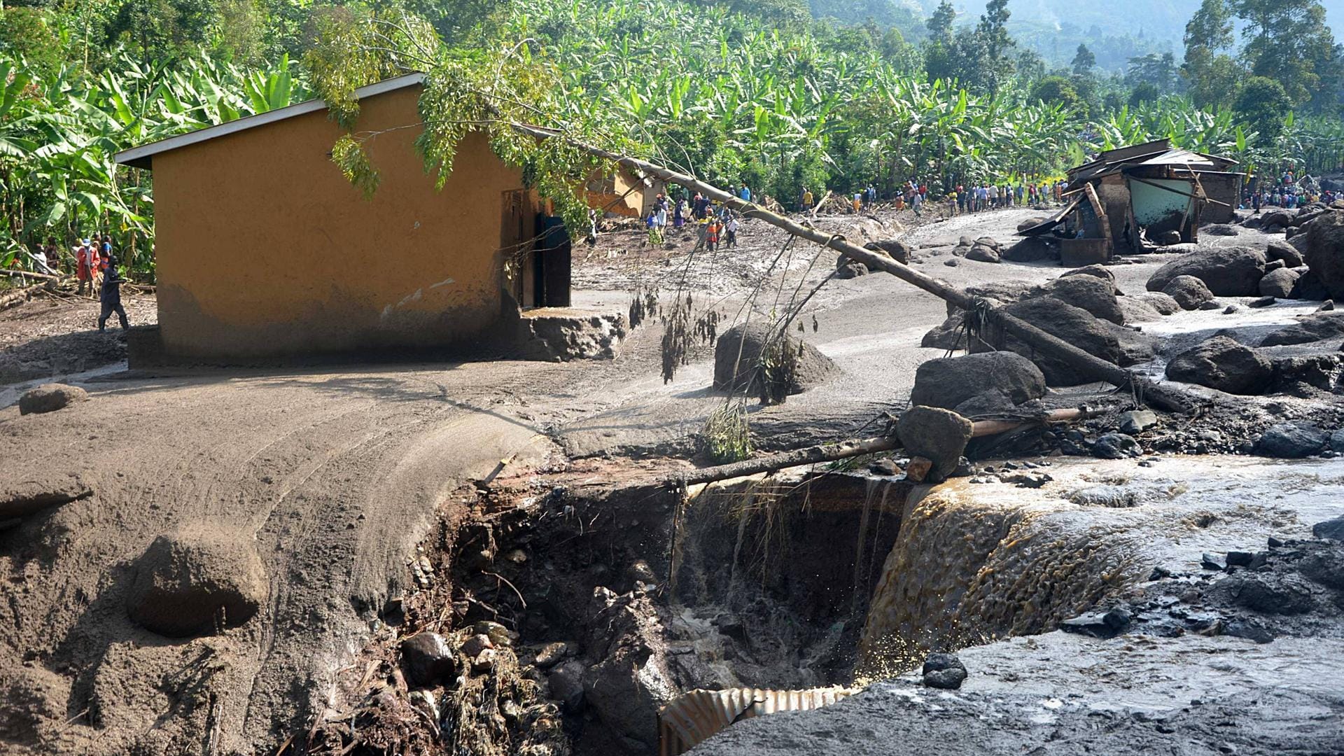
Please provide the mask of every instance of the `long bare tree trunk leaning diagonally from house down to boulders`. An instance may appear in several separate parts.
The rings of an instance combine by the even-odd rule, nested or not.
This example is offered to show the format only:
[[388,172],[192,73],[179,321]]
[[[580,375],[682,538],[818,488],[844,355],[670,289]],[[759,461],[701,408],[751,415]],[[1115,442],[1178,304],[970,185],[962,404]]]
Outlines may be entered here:
[[[513,128],[516,128],[521,133],[528,133],[540,139],[554,139],[554,137],[569,139],[562,132],[552,129],[543,129],[539,126],[515,124]],[[802,226],[789,218],[785,218],[784,215],[770,213],[769,210],[761,207],[759,204],[746,202],[743,199],[734,196],[727,191],[707,184],[700,179],[696,179],[695,176],[679,174],[676,171],[671,171],[668,168],[656,165],[646,160],[640,160],[637,157],[617,155],[614,152],[590,144],[583,144],[574,140],[570,141],[571,144],[575,144],[577,147],[589,152],[590,155],[594,155],[603,160],[610,160],[625,168],[642,171],[648,175],[663,179],[664,182],[673,183],[692,191],[698,191],[702,195],[714,199],[732,210],[741,211],[747,218],[759,218],[761,221],[765,221],[766,223],[770,223],[771,226],[775,226],[778,229],[784,229],[785,231],[796,237],[801,237],[810,242],[818,243],[824,248],[833,249],[844,254],[849,260],[853,260],[856,262],[863,262],[864,265],[868,266],[870,270],[886,270],[887,273],[891,273],[892,276],[900,278],[902,281],[913,284],[939,299],[950,301],[953,305],[966,312],[972,311],[984,312],[986,313],[988,320],[1003,327],[1005,332],[1017,336],[1019,339],[1030,344],[1032,348],[1044,352],[1048,356],[1059,359],[1060,362],[1068,363],[1079,373],[1093,378],[1094,381],[1102,381],[1118,387],[1129,387],[1136,393],[1136,395],[1141,401],[1149,401],[1161,409],[1169,412],[1180,412],[1180,413],[1189,412],[1191,409],[1193,409],[1195,406],[1198,406],[1204,401],[1199,397],[1193,397],[1173,386],[1163,386],[1154,383],[1153,381],[1149,381],[1148,378],[1138,375],[1137,373],[1132,373],[1113,362],[1107,362],[1094,354],[1083,351],[1052,334],[1042,331],[1040,328],[1032,326],[1031,323],[1027,323],[1025,320],[1020,320],[1007,312],[1003,312],[1001,309],[996,308],[992,303],[984,299],[973,297],[966,292],[945,281],[939,281],[930,276],[925,276],[923,273],[910,268],[909,265],[905,265],[903,262],[896,262],[895,260],[887,257],[886,254],[879,254],[876,252],[863,249],[856,243],[851,243],[839,234],[828,234],[825,231],[818,231],[817,229],[813,229],[810,226]]]

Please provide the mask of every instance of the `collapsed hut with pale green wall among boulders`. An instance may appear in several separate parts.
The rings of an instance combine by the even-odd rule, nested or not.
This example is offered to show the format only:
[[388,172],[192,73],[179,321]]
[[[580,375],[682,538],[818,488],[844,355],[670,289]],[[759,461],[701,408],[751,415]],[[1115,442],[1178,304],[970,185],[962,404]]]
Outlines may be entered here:
[[1235,165],[1167,140],[1107,149],[1071,168],[1063,210],[1023,234],[1054,233],[1067,266],[1146,245],[1195,242],[1200,223],[1234,218],[1245,179]]

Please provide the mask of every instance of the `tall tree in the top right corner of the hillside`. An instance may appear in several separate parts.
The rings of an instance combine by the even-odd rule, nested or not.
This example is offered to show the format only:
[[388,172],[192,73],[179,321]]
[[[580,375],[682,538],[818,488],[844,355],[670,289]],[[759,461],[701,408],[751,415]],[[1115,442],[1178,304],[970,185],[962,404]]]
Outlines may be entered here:
[[1318,0],[1234,0],[1246,22],[1242,58],[1251,73],[1282,85],[1294,105],[1332,109],[1341,81],[1340,46]]

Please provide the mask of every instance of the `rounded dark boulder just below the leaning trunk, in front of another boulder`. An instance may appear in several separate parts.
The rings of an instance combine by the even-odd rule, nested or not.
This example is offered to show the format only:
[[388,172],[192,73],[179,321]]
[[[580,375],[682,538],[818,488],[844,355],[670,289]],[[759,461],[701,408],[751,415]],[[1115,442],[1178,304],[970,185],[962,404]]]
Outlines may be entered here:
[[956,409],[989,390],[1023,404],[1046,395],[1046,377],[1030,359],[1011,351],[930,359],[915,371],[910,404]]

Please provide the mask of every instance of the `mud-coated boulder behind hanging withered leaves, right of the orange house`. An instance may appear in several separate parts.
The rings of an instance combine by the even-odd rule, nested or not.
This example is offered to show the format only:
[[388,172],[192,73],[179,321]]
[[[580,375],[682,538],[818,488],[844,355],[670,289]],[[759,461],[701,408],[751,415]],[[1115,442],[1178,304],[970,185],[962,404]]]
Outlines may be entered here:
[[[775,343],[767,343],[771,336]],[[720,391],[759,393],[765,373],[762,354],[769,352],[797,356],[792,375],[788,377],[789,394],[821,385],[836,370],[829,356],[788,332],[773,334],[767,323],[739,323],[719,335],[714,347],[714,387]]]

